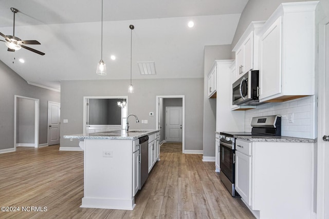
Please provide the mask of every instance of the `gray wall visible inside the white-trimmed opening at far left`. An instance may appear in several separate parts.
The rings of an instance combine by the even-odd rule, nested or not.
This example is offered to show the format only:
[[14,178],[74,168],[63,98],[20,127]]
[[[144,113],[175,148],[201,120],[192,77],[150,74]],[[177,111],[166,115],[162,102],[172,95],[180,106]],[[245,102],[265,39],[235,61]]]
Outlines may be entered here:
[[35,106],[32,99],[17,98],[16,143],[34,143]]

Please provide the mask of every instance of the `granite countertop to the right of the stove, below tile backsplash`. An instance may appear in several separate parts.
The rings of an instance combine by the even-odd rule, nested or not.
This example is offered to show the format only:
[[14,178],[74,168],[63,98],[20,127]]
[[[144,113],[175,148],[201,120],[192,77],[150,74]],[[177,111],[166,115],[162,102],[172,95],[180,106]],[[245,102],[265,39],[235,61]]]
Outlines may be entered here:
[[287,142],[287,143],[316,143],[316,139],[287,137],[287,136],[266,136],[266,135],[234,135],[235,138],[249,142]]

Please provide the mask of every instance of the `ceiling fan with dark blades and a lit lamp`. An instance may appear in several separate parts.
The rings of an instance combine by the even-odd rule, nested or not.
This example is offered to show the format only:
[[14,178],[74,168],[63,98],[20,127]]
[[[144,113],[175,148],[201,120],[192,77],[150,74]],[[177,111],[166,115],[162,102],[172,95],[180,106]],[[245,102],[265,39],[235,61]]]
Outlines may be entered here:
[[7,50],[10,52],[14,52],[15,50],[24,48],[24,49],[30,50],[32,52],[38,53],[40,55],[44,55],[45,53],[43,53],[43,52],[40,52],[38,50],[25,46],[25,44],[40,45],[40,43],[38,41],[22,41],[22,39],[15,36],[15,13],[19,12],[19,10],[15,9],[15,8],[10,8],[10,9],[14,13],[13,34],[11,36],[11,35],[5,35],[0,32],[0,35],[6,39],[6,41],[3,41],[2,39],[0,39],[0,41],[3,41],[6,43],[6,46],[8,47]]

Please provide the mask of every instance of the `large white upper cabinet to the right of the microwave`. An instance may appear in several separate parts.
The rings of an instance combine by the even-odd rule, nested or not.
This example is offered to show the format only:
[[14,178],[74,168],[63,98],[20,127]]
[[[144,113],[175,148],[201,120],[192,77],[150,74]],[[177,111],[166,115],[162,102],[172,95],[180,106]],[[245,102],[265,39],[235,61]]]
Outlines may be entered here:
[[260,31],[260,102],[315,94],[315,8],[282,3]]

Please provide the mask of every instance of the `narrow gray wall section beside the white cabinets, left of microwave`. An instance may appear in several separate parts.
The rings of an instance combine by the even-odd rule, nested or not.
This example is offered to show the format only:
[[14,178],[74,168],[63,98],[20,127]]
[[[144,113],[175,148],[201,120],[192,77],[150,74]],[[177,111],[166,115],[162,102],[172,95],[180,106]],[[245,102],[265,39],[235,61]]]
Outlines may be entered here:
[[204,127],[203,127],[204,156],[215,156],[215,131],[216,131],[216,99],[208,98],[207,75],[215,60],[230,59],[230,58],[231,58],[231,45],[205,46]]

